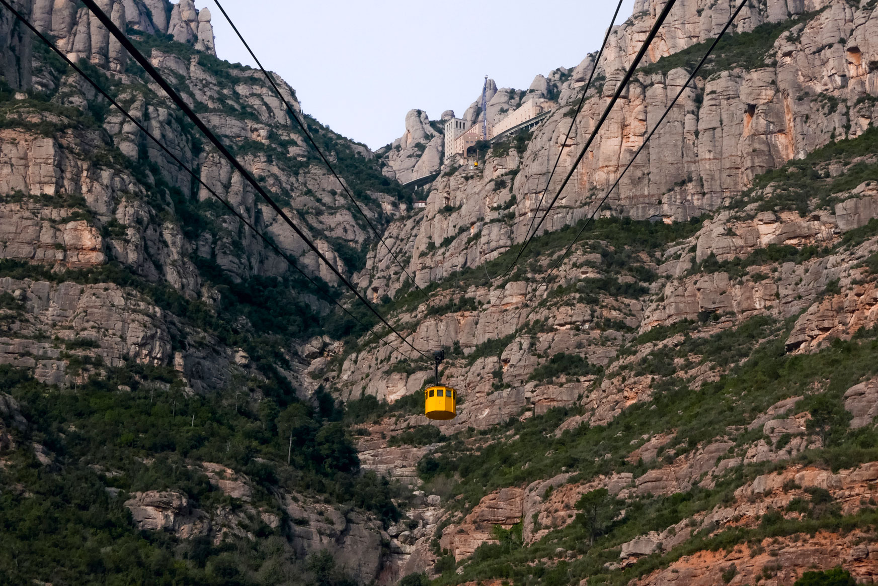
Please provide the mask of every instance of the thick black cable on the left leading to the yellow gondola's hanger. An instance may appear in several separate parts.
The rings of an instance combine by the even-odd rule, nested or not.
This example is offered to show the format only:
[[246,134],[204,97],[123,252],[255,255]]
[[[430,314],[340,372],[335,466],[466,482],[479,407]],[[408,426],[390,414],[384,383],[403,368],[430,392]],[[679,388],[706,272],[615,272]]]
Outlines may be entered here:
[[369,311],[371,311],[384,325],[386,325],[391,332],[396,334],[399,339],[401,339],[408,347],[411,347],[415,352],[421,354],[421,356],[423,356],[424,358],[429,358],[427,354],[424,354],[423,352],[421,352],[421,350],[414,347],[411,342],[409,342],[401,333],[396,330],[396,328],[390,325],[385,317],[382,316],[374,307],[372,307],[372,305],[368,301],[366,301],[365,297],[363,297],[363,295],[358,290],[356,290],[356,287],[354,287],[354,285],[349,282],[348,278],[342,275],[338,268],[335,268],[335,265],[333,265],[327,259],[326,255],[320,252],[320,249],[318,249],[311,241],[311,239],[306,236],[305,232],[302,232],[299,229],[299,226],[293,224],[292,220],[289,216],[287,216],[286,212],[284,212],[284,210],[282,210],[281,207],[277,205],[274,199],[272,199],[265,191],[265,189],[263,189],[262,185],[260,185],[259,182],[256,182],[253,175],[251,175],[248,170],[244,168],[243,165],[241,165],[241,162],[238,161],[234,157],[234,155],[229,152],[227,147],[222,144],[216,134],[214,134],[212,130],[208,128],[204,122],[201,121],[201,118],[198,118],[198,116],[195,114],[194,111],[192,111],[189,105],[184,102],[183,98],[180,97],[180,95],[176,93],[176,90],[173,89],[164,79],[162,74],[160,74],[155,69],[155,67],[153,67],[153,65],[148,61],[148,59],[143,54],[141,54],[140,51],[137,50],[137,47],[133,46],[131,40],[126,37],[124,32],[119,30],[118,26],[113,24],[112,20],[104,13],[104,11],[102,11],[100,7],[95,4],[94,0],[83,0],[83,4],[85,4],[89,8],[89,10],[97,17],[97,19],[100,20],[101,23],[112,33],[113,37],[119,40],[119,43],[126,48],[128,53],[131,54],[134,60],[140,63],[140,67],[144,68],[149,76],[152,77],[153,80],[155,80],[155,82],[159,84],[159,86],[165,91],[166,94],[168,94],[174,104],[176,104],[177,107],[180,108],[180,110],[182,110],[184,114],[191,119],[193,124],[198,126],[198,130],[205,134],[205,137],[207,137],[207,139],[212,142],[213,146],[215,146],[217,150],[219,150],[219,153],[226,157],[226,159],[232,164],[232,166],[238,171],[238,173],[241,174],[241,176],[253,187],[253,189],[256,190],[256,192],[261,197],[263,197],[263,199],[267,204],[269,204],[271,209],[274,210],[277,215],[280,216],[280,218],[284,219],[284,222],[286,222],[286,224],[292,228],[293,232],[296,232],[299,238],[302,239],[302,241],[304,241],[306,245],[311,248],[311,250],[313,250],[314,254],[317,254],[317,257],[320,259],[320,261],[323,261],[327,265],[327,267],[335,274],[335,276],[338,277],[338,279],[344,284],[344,286],[354,293],[360,303],[365,305],[366,308],[369,309]]

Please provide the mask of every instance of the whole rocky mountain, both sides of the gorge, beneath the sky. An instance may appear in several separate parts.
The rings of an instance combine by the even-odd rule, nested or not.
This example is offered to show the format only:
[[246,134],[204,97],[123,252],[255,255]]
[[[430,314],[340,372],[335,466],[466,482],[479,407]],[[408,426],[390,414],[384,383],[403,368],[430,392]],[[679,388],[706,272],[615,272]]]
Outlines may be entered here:
[[281,83],[411,282],[263,77],[216,59],[206,9],[103,4],[392,325],[445,348],[461,400],[441,424],[421,414],[431,361],[368,333],[87,9],[16,4],[319,289],[0,11],[6,575],[743,586],[842,566],[874,581],[874,0],[745,8],[562,261],[733,7],[678,2],[499,277],[546,210],[567,128],[550,198],[662,5],[638,0],[611,32],[575,120],[595,54],[529,89],[489,82],[470,124],[557,107],[478,166],[443,164],[453,112],[409,111],[373,154]]

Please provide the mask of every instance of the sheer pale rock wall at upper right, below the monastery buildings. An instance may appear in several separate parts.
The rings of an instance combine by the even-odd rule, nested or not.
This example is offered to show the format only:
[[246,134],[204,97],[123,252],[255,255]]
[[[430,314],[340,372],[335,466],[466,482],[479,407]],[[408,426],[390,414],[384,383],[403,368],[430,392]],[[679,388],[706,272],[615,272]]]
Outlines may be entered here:
[[[638,6],[635,15],[610,35],[598,64],[600,81],[589,89],[566,145],[562,142],[570,128],[574,100],[591,71],[592,57],[560,82],[559,107],[534,129],[529,141],[495,146],[478,172],[453,173],[454,166],[446,166],[443,171],[450,176],[443,175],[429,188],[424,213],[418,219],[400,218],[389,227],[394,239],[411,252],[407,268],[421,286],[490,261],[525,238],[535,215],[542,217],[590,136],[615,92],[614,80],[621,78],[637,53],[639,39],[660,4]],[[729,17],[727,3],[705,4],[711,5],[683,2],[674,7],[670,23],[648,54],[646,61],[653,64],[635,75],[623,93],[543,222],[541,233],[575,224],[594,212],[604,190],[687,79],[687,70],[673,64],[663,67],[657,63],[659,58],[711,38]],[[875,74],[867,65],[874,61],[869,56],[874,54],[870,40],[873,11],[867,4],[858,7],[839,1],[745,8],[733,28],[752,32],[766,25],[742,41],[766,44],[766,39],[773,40],[766,44],[764,60],[759,55],[745,66],[709,65],[708,75],[684,92],[601,214],[685,221],[716,210],[749,187],[755,175],[802,158],[831,140],[859,136],[875,115],[870,98],[876,91]],[[773,26],[786,30],[780,32]],[[688,59],[694,63],[703,49],[694,47],[693,51]],[[507,94],[500,90],[496,95]],[[490,109],[489,116],[497,117]],[[522,144],[524,150],[517,152]],[[562,146],[558,171],[547,186]],[[537,211],[545,189],[547,199]],[[510,203],[512,196],[515,200]],[[440,209],[450,211],[438,214]],[[471,246],[472,239],[478,246]],[[402,281],[399,276],[389,278],[392,273],[384,270],[388,266],[385,256],[385,250],[372,254],[367,267],[371,270],[361,278],[363,285],[371,283],[382,294],[385,290],[392,293]]]

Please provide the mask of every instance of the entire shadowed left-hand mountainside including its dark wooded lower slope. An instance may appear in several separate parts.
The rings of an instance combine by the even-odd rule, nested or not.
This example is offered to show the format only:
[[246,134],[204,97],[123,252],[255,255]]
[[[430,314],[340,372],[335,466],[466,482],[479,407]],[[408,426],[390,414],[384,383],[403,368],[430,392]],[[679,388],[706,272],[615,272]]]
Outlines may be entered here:
[[[263,76],[216,59],[210,11],[191,0],[98,4],[321,253],[342,273],[360,268],[375,235]],[[411,494],[394,504],[387,482],[361,474],[341,411],[305,375],[306,341],[349,328],[330,311],[341,297],[335,275],[87,8],[15,6],[322,284],[0,11],[0,388],[11,393],[0,399],[0,475],[11,487],[4,522],[17,527],[3,538],[2,574],[375,579],[385,526]],[[399,213],[404,193],[369,149],[304,115],[280,87],[370,221]],[[30,527],[33,515],[57,523]],[[90,532],[91,545],[67,540],[64,526]],[[261,559],[234,561],[224,554],[234,543]],[[149,569],[174,556],[191,563]]]

